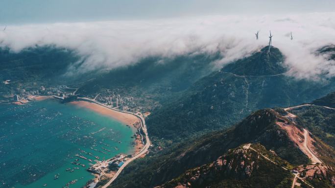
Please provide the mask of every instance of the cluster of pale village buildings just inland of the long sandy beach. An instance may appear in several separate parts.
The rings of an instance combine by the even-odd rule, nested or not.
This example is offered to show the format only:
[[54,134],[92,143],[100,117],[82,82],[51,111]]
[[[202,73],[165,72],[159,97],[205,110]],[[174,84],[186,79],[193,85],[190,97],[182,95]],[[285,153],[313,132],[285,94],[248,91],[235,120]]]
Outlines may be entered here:
[[107,97],[99,96],[96,98],[96,101],[119,108],[120,110],[128,110],[136,107],[134,97],[121,97],[120,95],[113,94],[113,96]]

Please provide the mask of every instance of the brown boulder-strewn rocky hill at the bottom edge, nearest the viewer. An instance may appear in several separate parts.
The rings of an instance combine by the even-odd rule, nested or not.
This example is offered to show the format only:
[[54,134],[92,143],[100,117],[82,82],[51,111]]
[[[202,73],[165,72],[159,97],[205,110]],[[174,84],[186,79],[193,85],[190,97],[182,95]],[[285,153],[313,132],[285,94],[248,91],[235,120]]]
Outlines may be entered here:
[[[229,150],[225,155],[218,157],[216,161],[188,170],[181,177],[156,188],[202,188],[218,184],[223,180],[243,181],[252,177],[255,171],[264,173],[264,170],[270,169],[266,167],[267,165],[276,168],[274,171],[283,170],[265,159],[259,152],[249,147],[240,146]],[[270,172],[271,170],[269,170]],[[257,177],[257,175],[253,177]]]

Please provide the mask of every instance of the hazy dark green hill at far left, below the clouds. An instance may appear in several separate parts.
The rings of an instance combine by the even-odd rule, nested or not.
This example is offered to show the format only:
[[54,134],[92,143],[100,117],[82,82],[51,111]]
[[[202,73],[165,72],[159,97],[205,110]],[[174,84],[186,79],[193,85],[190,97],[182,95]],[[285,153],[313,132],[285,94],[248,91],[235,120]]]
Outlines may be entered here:
[[[29,47],[20,52],[0,48],[0,95],[41,85],[72,84],[87,76],[66,76],[71,65],[80,63],[75,52],[55,46]],[[4,84],[5,80],[10,80],[10,84]]]

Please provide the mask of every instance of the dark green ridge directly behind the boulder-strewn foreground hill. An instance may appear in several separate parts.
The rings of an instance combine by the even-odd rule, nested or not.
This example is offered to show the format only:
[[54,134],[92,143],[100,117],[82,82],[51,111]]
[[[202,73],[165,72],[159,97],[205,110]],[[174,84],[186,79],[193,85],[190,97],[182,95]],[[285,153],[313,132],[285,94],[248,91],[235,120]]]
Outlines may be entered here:
[[[229,130],[211,132],[184,141],[127,166],[111,188],[151,188],[178,177],[188,169],[215,161],[231,148],[245,143],[260,143],[293,165],[309,159],[275,124],[282,118],[274,110],[258,110]],[[285,165],[285,164],[283,164]]]

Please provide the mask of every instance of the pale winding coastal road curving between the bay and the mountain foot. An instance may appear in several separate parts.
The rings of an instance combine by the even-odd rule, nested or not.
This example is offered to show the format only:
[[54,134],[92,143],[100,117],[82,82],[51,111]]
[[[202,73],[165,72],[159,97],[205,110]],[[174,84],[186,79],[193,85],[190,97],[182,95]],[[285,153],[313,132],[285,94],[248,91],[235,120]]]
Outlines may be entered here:
[[113,178],[110,179],[107,182],[107,184],[105,184],[104,186],[101,187],[101,188],[107,188],[109,185],[111,185],[117,179],[117,177],[120,175],[120,173],[122,172],[122,170],[124,169],[124,167],[126,167],[130,162],[132,162],[135,159],[141,157],[143,154],[145,154],[148,151],[148,149],[150,147],[150,140],[149,140],[148,131],[147,131],[146,125],[145,125],[145,120],[144,120],[144,117],[142,115],[139,115],[137,113],[132,113],[132,112],[127,112],[127,111],[122,111],[122,110],[114,109],[114,108],[111,108],[111,107],[109,107],[109,106],[107,106],[105,104],[99,103],[96,100],[93,100],[93,99],[90,99],[90,98],[78,97],[78,99],[81,99],[81,100],[84,100],[84,101],[90,101],[92,103],[96,103],[96,104],[102,105],[102,106],[104,106],[106,108],[109,108],[109,109],[112,109],[112,110],[116,110],[116,111],[119,111],[119,112],[123,112],[123,113],[127,113],[127,114],[132,114],[132,115],[138,117],[140,119],[140,122],[141,122],[142,130],[143,130],[143,132],[145,134],[145,141],[146,141],[146,143],[145,143],[144,147],[141,149],[141,151],[139,153],[137,153],[132,158],[130,158],[126,162],[124,162],[124,164],[118,169],[118,171],[113,176]]

